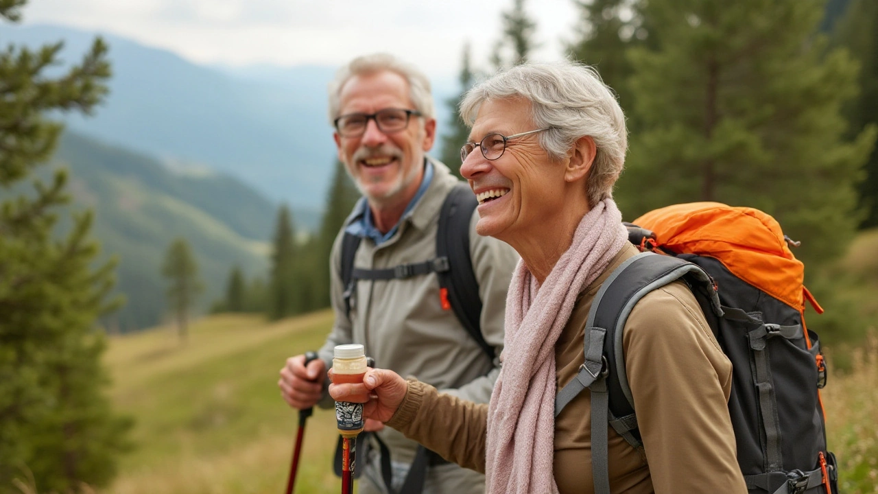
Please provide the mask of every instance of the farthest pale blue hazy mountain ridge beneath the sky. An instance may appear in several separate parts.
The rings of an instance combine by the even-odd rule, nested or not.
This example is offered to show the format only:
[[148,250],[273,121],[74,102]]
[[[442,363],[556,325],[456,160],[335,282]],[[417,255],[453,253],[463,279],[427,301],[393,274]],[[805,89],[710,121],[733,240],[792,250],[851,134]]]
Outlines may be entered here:
[[[94,36],[56,25],[0,25],[4,45],[64,40],[65,62],[78,62]],[[326,96],[334,68],[220,69],[119,36],[104,40],[111,94],[94,116],[70,117],[70,128],[162,160],[226,171],[294,208],[324,206],[335,160]],[[448,118],[444,99],[454,91],[454,81],[434,81],[440,132]]]

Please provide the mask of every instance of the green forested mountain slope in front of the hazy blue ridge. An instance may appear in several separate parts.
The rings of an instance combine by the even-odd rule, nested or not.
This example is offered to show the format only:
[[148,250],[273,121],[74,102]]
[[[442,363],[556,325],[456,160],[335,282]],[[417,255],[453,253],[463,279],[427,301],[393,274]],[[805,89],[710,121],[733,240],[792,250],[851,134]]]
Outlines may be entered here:
[[93,235],[119,258],[124,330],[160,322],[166,282],[160,274],[171,241],[186,238],[198,259],[206,307],[223,293],[229,271],[264,276],[277,207],[252,187],[215,171],[170,170],[155,158],[65,133],[54,164],[71,171],[75,207],[96,213]]

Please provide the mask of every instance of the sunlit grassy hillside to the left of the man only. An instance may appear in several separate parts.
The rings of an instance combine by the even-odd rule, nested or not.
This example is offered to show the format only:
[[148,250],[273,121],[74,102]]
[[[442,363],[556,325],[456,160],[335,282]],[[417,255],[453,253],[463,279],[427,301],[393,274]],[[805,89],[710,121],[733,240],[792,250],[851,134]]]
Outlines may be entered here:
[[[286,357],[317,348],[329,312],[266,323],[214,316],[188,345],[170,328],[110,338],[112,399],[136,420],[136,449],[113,494],[283,492],[298,414],[277,390]],[[298,492],[339,489],[331,471],[335,415],[308,420]]]

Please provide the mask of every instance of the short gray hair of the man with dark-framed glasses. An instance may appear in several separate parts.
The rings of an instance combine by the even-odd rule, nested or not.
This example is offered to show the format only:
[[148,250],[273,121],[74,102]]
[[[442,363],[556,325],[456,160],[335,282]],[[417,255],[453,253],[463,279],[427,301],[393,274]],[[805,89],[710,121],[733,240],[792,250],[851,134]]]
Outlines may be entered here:
[[432,119],[435,115],[433,109],[433,95],[430,93],[430,81],[421,70],[414,65],[403,62],[392,54],[367,54],[356,57],[347,65],[335,73],[335,79],[329,83],[329,121],[339,116],[341,103],[340,93],[344,84],[352,77],[366,74],[374,74],[389,70],[406,79],[408,83],[408,96],[412,100],[414,109],[421,112],[426,119]]

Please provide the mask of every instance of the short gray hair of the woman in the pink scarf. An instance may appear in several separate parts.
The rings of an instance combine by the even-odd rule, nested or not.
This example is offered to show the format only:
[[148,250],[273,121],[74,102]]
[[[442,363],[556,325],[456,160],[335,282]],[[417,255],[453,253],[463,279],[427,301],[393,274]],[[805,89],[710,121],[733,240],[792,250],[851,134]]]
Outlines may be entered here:
[[482,103],[504,98],[529,100],[536,127],[551,127],[540,133],[539,142],[553,159],[564,158],[574,142],[591,136],[597,154],[587,178],[588,204],[594,207],[613,197],[625,164],[628,130],[613,91],[595,69],[577,62],[524,63],[467,91],[460,115],[472,126]]

